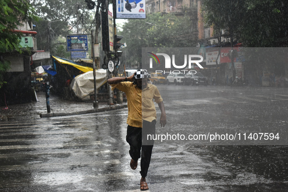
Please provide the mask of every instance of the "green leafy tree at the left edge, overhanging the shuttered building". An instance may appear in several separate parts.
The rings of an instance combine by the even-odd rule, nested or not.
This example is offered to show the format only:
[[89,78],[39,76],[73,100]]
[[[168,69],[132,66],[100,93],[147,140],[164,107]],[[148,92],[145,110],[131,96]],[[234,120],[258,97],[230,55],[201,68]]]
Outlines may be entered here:
[[21,33],[13,32],[24,21],[37,20],[34,9],[28,0],[0,0],[0,88],[4,83],[2,73],[9,69],[10,63],[2,54],[20,50]]

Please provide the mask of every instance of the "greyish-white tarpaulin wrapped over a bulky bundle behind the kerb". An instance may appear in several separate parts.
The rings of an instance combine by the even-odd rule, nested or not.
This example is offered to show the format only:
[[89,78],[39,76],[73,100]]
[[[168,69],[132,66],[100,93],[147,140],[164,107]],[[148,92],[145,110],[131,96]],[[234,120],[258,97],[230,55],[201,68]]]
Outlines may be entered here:
[[[96,70],[96,89],[101,87],[106,81],[107,71],[104,69]],[[75,77],[72,80],[70,87],[79,98],[84,98],[85,96],[94,93],[93,71]]]

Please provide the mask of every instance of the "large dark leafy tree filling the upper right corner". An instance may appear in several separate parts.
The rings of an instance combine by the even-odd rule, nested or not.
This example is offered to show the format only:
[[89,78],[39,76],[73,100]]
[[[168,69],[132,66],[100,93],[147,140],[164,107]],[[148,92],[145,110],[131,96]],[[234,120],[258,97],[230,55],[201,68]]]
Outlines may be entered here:
[[[271,62],[271,50],[259,47],[283,47],[288,45],[288,2],[284,0],[204,0],[203,11],[207,24],[214,24],[229,32],[244,47],[256,47],[243,51],[243,67],[254,74],[250,77],[261,85],[265,71],[284,69],[283,62]],[[262,55],[261,55],[261,54]],[[277,53],[278,54],[278,53]],[[268,60],[270,62],[268,62]],[[284,70],[277,70],[280,76]],[[276,71],[274,71],[276,72]],[[275,73],[276,74],[276,73]],[[234,75],[234,71],[233,71]],[[234,76],[233,76],[234,77]],[[251,80],[250,79],[250,80]]]

